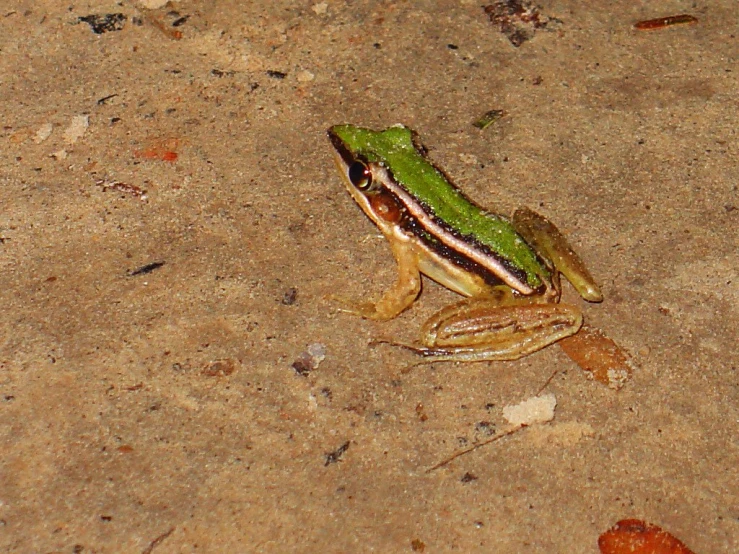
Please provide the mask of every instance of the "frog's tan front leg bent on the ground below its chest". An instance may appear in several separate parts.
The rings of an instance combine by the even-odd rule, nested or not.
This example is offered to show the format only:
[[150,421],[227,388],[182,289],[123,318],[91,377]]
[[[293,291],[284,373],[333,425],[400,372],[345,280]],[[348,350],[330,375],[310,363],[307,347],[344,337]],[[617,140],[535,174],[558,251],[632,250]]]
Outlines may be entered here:
[[418,269],[418,255],[410,241],[390,242],[393,256],[398,263],[398,279],[377,302],[354,302],[336,298],[341,310],[362,316],[366,319],[393,319],[413,304],[421,292],[421,273]]

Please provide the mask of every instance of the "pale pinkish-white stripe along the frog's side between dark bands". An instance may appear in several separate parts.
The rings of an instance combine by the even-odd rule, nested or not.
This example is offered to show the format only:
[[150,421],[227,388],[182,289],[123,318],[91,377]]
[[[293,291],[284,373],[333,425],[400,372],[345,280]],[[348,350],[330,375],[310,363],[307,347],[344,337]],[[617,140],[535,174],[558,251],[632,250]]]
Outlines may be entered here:
[[410,213],[419,225],[421,225],[431,235],[439,239],[443,244],[449,248],[459,252],[461,255],[466,256],[470,260],[477,262],[482,267],[493,273],[506,285],[512,289],[518,291],[521,294],[533,294],[532,289],[528,283],[525,283],[518,279],[494,256],[479,249],[475,244],[466,242],[459,237],[450,233],[447,229],[439,225],[434,219],[423,209],[423,206],[414,198],[408,191],[399,185],[395,179],[392,178],[390,172],[384,166],[378,163],[370,163],[368,167],[372,171],[372,178],[387,187],[393,194],[395,194],[401,202],[405,205],[408,213]]

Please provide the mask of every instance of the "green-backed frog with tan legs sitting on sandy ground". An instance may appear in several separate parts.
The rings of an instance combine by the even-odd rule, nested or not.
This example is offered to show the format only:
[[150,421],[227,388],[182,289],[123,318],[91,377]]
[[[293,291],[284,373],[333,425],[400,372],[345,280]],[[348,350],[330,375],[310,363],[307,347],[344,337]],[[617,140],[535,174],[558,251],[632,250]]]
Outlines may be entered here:
[[546,217],[480,207],[432,163],[418,135],[398,124],[327,131],[344,185],[390,244],[395,283],[376,301],[335,297],[369,320],[390,320],[418,298],[422,275],[465,297],[425,321],[417,344],[439,361],[509,361],[577,333],[582,310],[560,302],[561,276],[588,302],[603,294],[582,259]]

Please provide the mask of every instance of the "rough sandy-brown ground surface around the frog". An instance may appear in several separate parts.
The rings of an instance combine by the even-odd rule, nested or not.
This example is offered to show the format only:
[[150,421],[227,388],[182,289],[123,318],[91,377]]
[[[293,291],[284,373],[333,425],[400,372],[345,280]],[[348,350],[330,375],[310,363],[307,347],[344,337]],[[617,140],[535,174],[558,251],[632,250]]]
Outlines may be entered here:
[[[161,4],[0,9],[3,551],[597,553],[624,518],[737,551],[735,0],[541,0],[519,46],[471,0]],[[396,271],[347,122],[556,222],[632,379],[373,346],[457,297],[337,311]]]

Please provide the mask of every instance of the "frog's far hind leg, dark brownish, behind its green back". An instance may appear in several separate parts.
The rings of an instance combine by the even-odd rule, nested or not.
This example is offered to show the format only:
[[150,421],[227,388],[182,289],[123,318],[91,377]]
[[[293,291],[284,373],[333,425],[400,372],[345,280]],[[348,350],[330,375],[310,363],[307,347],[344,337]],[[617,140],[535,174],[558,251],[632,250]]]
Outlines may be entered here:
[[600,302],[603,295],[565,236],[544,216],[529,208],[522,207],[515,211],[513,226],[544,257],[552,260],[575,290],[585,300]]

